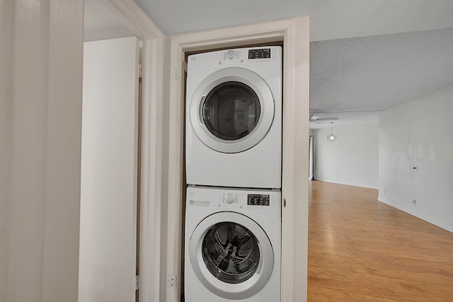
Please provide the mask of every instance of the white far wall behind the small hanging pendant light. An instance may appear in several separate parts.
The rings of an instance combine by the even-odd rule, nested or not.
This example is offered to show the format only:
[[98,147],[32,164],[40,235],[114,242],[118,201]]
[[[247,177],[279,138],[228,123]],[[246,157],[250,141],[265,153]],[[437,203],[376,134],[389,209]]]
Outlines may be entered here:
[[315,179],[377,189],[379,123],[333,124],[338,139],[328,141],[331,128],[314,129]]

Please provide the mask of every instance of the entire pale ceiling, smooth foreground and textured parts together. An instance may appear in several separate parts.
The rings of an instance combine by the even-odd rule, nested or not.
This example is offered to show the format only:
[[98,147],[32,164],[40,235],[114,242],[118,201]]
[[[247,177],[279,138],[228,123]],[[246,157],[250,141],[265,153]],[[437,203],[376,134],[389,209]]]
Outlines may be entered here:
[[[86,40],[132,35],[103,1],[85,0]],[[167,35],[310,16],[310,112],[365,112],[338,114],[336,124],[376,120],[367,112],[453,85],[452,0],[136,3]]]

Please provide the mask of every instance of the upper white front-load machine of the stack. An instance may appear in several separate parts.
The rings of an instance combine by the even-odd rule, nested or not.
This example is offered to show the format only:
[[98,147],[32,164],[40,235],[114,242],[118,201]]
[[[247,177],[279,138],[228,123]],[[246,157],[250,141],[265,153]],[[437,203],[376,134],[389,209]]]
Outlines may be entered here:
[[281,188],[282,48],[190,55],[186,87],[187,183]]

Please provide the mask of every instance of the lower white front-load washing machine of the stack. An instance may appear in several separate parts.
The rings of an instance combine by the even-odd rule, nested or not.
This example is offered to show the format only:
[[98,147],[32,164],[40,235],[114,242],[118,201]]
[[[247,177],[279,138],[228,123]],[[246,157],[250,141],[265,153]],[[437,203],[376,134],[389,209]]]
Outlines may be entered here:
[[188,187],[185,302],[280,301],[281,192]]

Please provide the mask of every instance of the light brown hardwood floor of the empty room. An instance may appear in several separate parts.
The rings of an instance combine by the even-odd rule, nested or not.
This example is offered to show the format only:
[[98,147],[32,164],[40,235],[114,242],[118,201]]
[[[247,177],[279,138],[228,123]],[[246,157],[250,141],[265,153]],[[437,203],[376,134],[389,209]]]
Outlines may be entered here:
[[453,301],[453,233],[377,190],[310,182],[308,258],[310,302]]

